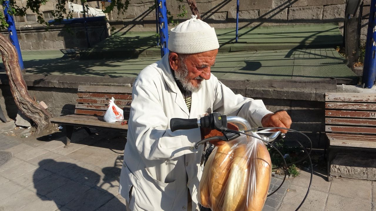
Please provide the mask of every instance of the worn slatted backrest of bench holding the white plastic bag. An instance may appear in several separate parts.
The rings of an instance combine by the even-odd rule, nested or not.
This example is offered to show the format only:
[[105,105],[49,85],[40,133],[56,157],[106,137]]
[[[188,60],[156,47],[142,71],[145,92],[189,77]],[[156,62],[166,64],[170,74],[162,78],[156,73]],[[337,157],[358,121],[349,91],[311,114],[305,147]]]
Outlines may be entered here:
[[123,86],[79,86],[75,114],[104,116],[111,97],[124,111],[124,119],[129,119],[132,102],[132,87]]

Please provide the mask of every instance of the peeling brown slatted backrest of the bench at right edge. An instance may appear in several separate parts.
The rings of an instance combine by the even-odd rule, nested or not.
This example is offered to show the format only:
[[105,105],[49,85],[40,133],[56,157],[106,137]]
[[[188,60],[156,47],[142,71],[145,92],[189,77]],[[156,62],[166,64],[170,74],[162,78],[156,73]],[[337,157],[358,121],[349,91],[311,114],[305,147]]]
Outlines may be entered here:
[[325,132],[376,135],[376,93],[325,93]]

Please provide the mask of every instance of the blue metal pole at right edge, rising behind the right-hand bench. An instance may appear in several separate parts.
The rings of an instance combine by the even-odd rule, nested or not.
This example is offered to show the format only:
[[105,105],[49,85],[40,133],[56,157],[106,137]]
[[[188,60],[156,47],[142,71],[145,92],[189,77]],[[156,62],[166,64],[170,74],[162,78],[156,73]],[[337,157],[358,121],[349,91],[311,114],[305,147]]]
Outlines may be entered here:
[[372,88],[376,80],[376,18],[373,15],[375,12],[376,0],[371,0],[362,77],[362,84],[368,89]]

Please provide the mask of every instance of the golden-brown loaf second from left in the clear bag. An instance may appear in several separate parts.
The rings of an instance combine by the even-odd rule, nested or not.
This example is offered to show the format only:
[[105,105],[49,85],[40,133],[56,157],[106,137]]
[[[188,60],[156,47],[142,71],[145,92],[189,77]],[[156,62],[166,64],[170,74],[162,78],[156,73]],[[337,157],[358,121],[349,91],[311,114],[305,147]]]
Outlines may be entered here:
[[232,144],[225,142],[217,147],[209,176],[209,193],[212,211],[222,210],[223,192],[226,187],[233,157]]

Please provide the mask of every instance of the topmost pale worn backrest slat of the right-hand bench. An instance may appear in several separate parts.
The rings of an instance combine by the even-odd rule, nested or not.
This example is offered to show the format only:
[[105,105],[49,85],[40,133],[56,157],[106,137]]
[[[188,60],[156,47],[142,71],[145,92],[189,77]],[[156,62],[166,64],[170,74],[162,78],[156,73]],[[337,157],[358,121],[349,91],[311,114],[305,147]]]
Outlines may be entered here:
[[325,101],[339,102],[376,102],[374,93],[325,93]]

